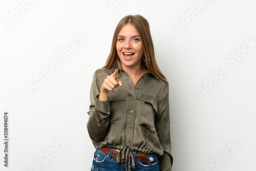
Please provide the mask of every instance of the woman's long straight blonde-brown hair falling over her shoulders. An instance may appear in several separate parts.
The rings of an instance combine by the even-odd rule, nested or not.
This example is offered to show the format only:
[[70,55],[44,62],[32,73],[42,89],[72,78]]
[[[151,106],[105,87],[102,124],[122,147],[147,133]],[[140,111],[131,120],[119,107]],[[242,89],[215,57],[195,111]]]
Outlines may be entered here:
[[120,32],[122,27],[128,23],[132,24],[138,30],[142,40],[144,54],[141,58],[141,66],[150,70],[150,72],[153,72],[155,75],[157,75],[159,78],[161,78],[164,82],[168,84],[166,77],[163,75],[163,73],[157,66],[153,40],[150,33],[150,24],[148,23],[147,19],[141,15],[127,15],[120,20],[114,32],[109,57],[108,59],[106,59],[105,66],[101,69],[120,69],[121,75],[121,65],[120,59],[116,51],[116,42],[118,33]]

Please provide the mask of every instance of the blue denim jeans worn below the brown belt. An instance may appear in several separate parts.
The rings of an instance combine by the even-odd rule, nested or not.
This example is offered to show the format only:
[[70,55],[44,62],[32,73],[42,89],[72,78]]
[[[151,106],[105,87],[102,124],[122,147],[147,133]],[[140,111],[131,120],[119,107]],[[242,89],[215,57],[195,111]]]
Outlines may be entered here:
[[[110,148],[112,149],[112,148]],[[91,171],[108,171],[108,170],[116,170],[116,171],[125,171],[125,163],[117,163],[115,158],[112,157],[112,152],[114,149],[111,150],[109,155],[101,152],[99,149],[96,149],[93,157],[93,166]],[[137,160],[136,159],[136,152],[133,152],[134,161],[135,161],[135,169],[132,170],[154,170],[159,171],[159,161],[156,154],[148,154],[145,157],[148,158],[151,165],[148,163]],[[128,166],[127,166],[128,169]]]

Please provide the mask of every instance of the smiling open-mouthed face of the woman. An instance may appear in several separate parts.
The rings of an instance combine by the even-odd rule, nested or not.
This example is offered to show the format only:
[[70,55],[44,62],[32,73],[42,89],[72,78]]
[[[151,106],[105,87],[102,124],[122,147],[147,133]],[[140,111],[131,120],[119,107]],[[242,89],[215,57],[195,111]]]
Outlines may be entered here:
[[123,69],[140,67],[143,46],[140,34],[133,25],[126,24],[120,30],[116,50]]

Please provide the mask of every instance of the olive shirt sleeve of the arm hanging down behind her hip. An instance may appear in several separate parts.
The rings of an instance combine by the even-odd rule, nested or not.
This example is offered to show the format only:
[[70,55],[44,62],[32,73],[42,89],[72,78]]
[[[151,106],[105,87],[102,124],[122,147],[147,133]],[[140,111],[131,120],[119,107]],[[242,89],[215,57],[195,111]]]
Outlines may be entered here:
[[169,87],[166,84],[164,95],[158,106],[158,114],[155,118],[155,127],[163,155],[159,157],[159,166],[161,171],[172,170],[173,156],[170,153],[172,147],[170,142],[170,119],[169,119]]

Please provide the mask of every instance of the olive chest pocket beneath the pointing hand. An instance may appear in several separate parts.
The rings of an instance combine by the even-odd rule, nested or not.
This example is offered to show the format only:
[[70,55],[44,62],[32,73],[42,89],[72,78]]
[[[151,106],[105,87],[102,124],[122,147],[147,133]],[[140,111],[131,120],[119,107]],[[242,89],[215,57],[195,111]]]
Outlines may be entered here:
[[124,90],[117,88],[114,92],[110,92],[108,101],[110,101],[110,124],[122,124],[125,101]]

